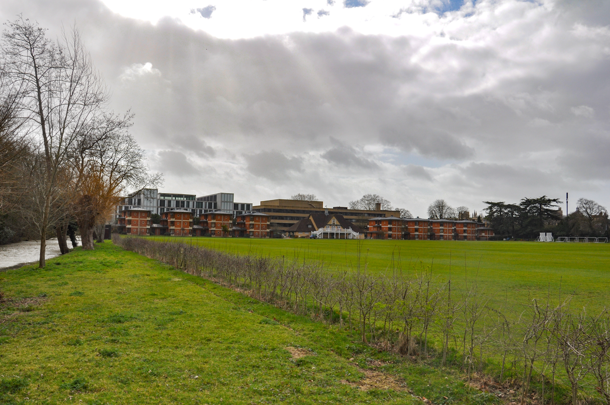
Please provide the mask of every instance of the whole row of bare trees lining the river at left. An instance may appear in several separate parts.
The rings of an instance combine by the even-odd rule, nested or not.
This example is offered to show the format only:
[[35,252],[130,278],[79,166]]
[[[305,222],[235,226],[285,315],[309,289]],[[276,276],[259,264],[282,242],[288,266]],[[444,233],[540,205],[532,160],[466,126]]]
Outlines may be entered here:
[[[109,91],[76,28],[59,40],[19,18],[5,24],[0,66],[0,209],[24,236],[57,236],[62,253],[71,223],[93,249],[127,188],[154,185],[145,154],[129,134],[132,114],[108,109]],[[98,229],[98,237],[102,235]]]

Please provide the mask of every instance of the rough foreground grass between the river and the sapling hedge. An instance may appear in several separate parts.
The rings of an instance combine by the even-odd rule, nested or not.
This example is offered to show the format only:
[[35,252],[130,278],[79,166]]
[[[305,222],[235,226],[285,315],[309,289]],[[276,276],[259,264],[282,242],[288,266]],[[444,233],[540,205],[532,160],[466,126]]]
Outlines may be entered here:
[[378,353],[110,242],[0,281],[0,404],[493,402],[455,371]]

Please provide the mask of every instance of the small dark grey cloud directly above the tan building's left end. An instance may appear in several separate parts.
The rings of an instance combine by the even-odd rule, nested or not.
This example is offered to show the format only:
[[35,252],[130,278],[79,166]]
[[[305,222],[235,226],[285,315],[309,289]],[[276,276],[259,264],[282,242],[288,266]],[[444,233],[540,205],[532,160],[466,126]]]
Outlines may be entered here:
[[287,157],[279,151],[262,151],[244,156],[248,171],[271,181],[289,181],[291,174],[303,171],[301,157]]

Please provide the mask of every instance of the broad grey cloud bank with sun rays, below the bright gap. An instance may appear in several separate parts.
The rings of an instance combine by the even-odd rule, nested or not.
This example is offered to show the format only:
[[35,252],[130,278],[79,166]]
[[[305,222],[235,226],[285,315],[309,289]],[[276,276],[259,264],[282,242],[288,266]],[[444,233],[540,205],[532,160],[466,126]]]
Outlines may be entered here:
[[[598,14],[610,7],[605,3],[598,3]],[[400,165],[417,162],[417,170],[426,171],[425,163],[404,157],[418,155],[438,163],[434,181],[417,185],[418,195],[431,201],[453,190],[476,207],[483,199],[513,201],[523,190],[534,195],[539,188],[542,195],[554,187],[602,190],[590,198],[608,206],[610,192],[603,190],[610,184],[600,173],[609,169],[610,60],[603,26],[610,13],[596,16],[594,5],[575,1],[559,1],[554,9],[535,2],[519,7],[536,13],[498,14],[498,26],[475,13],[460,21],[460,30],[443,25],[442,41],[363,35],[348,27],[228,40],[172,18],[156,24],[123,18],[94,0],[7,0],[0,17],[32,10],[27,17],[49,27],[52,37],[60,31],[57,21],[77,21],[112,88],[111,107],[131,108],[132,132],[151,157],[171,148],[196,167],[200,159],[232,187],[250,190],[252,200],[301,177],[308,191],[337,193],[337,199],[334,184],[375,187],[383,177],[409,185],[404,173],[417,172]],[[464,46],[487,28],[503,34]],[[339,143],[329,146],[331,137]],[[387,148],[404,160],[396,160],[397,167],[384,163],[375,176],[343,171],[332,186],[312,180],[328,178],[331,165],[375,163],[342,145]],[[326,151],[321,162],[319,151]],[[179,179],[170,174],[175,170],[162,170],[167,184]],[[249,173],[268,179],[269,188],[249,184]],[[424,212],[428,203],[422,199],[422,209],[409,209]]]

